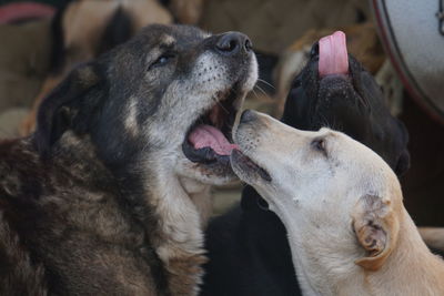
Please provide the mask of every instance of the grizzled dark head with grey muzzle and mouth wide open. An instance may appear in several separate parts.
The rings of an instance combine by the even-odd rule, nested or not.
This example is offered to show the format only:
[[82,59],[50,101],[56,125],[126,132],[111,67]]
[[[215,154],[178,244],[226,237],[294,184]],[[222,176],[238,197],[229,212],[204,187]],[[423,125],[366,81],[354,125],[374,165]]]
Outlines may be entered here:
[[90,136],[113,167],[131,164],[137,171],[226,182],[234,177],[231,129],[256,68],[251,42],[241,33],[148,27],[73,70],[44,100],[37,146],[48,156],[72,131]]

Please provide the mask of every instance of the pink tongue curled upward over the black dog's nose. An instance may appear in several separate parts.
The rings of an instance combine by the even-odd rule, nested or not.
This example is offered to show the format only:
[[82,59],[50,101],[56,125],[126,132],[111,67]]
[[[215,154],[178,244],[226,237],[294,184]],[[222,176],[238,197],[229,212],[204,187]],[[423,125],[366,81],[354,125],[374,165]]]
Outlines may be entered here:
[[329,74],[349,73],[349,55],[344,32],[337,31],[322,38],[319,45],[319,73],[321,78]]

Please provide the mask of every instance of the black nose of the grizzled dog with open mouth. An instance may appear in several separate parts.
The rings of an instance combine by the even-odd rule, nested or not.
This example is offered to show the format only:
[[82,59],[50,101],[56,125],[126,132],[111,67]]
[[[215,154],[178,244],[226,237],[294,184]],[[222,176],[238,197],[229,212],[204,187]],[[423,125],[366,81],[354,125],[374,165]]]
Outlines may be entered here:
[[253,49],[250,39],[240,32],[228,32],[222,34],[215,43],[216,50],[224,55],[249,53]]

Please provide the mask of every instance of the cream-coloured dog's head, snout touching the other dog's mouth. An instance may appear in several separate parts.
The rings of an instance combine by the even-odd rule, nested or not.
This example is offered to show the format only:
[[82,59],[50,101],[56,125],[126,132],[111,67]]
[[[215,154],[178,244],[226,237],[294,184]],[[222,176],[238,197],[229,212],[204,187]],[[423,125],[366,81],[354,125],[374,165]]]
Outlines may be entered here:
[[327,273],[384,264],[396,244],[402,194],[376,153],[343,133],[300,131],[253,111],[242,114],[234,139],[234,172],[280,216],[301,258]]

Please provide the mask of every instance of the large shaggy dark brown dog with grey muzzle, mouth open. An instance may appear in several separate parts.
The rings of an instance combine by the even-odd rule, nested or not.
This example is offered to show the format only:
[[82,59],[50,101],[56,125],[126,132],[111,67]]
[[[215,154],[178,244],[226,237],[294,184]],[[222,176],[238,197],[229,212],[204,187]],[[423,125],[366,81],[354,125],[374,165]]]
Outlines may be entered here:
[[210,186],[258,78],[250,40],[152,25],[0,144],[1,295],[194,295]]

